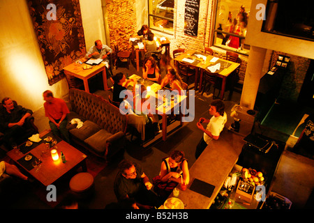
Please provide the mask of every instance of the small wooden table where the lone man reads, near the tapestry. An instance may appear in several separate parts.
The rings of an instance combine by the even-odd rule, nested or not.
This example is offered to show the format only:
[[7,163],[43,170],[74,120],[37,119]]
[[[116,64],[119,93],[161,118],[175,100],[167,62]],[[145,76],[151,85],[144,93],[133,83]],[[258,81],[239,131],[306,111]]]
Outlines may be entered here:
[[[80,61],[87,61],[87,59],[80,59]],[[89,78],[97,75],[99,72],[103,72],[103,87],[105,91],[108,90],[107,86],[107,75],[106,75],[106,68],[105,63],[99,63],[98,65],[92,66],[91,69],[84,70],[84,66],[87,65],[86,63],[71,63],[70,65],[63,68],[63,71],[66,75],[72,75],[74,77],[80,78],[84,82],[84,89],[86,92],[89,93]]]

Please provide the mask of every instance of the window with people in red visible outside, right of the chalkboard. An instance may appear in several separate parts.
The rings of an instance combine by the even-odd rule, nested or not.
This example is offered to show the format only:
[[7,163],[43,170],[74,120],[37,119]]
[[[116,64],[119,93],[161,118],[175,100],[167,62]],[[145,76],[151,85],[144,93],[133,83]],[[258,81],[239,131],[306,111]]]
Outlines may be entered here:
[[250,45],[246,45],[246,31],[251,0],[218,0],[214,45],[228,51],[248,55]]

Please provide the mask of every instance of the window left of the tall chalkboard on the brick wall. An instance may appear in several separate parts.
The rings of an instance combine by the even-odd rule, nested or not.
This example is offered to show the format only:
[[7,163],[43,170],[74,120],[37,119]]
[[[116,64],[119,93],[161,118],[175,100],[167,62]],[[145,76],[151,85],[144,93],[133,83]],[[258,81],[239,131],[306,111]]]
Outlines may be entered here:
[[173,34],[174,0],[148,0],[149,29]]

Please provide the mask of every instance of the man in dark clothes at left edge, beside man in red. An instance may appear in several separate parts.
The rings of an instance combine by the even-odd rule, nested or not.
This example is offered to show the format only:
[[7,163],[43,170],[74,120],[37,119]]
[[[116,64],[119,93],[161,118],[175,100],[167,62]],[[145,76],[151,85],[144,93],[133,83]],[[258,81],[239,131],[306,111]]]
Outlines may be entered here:
[[[24,139],[21,136],[27,134],[28,128],[25,119],[33,112],[21,105],[13,103],[11,98],[3,98],[0,108],[0,132],[3,135],[5,146],[12,149],[13,144],[21,144]],[[35,132],[29,131],[29,137]]]

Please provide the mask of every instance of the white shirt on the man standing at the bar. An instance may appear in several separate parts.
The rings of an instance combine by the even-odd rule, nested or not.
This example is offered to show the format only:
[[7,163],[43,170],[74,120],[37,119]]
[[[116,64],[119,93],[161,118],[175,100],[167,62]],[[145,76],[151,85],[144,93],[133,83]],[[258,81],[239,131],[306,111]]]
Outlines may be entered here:
[[[211,132],[212,135],[214,136],[219,136],[220,132],[223,130],[225,127],[225,123],[227,122],[227,114],[225,112],[223,113],[223,116],[212,116],[206,130]],[[209,144],[211,141],[211,137],[209,137],[208,134],[204,132],[204,141]]]

